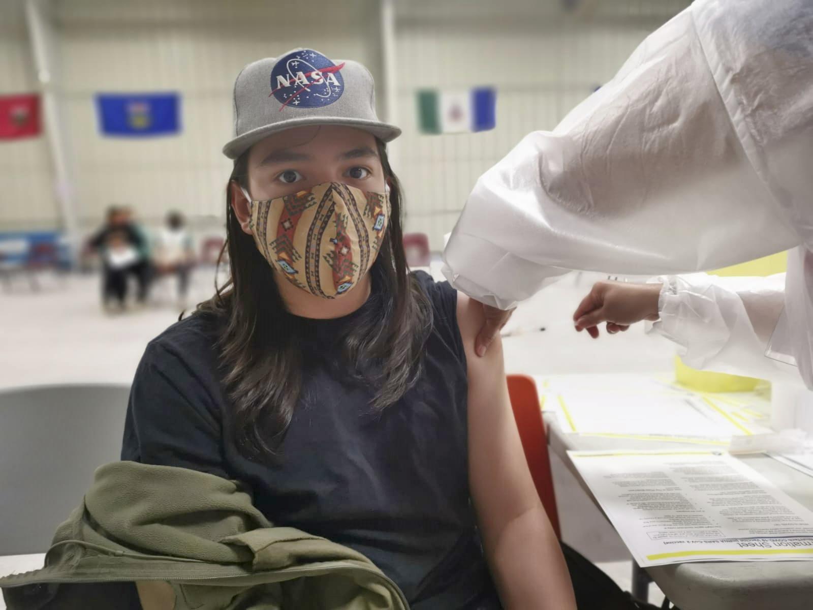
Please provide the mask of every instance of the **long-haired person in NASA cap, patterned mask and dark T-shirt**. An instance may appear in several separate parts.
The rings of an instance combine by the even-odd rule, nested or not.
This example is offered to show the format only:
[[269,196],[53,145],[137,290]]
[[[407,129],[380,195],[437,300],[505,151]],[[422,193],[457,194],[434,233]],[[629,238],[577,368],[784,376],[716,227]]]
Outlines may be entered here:
[[[479,303],[406,268],[370,73],[293,50],[234,88],[231,278],[141,359],[122,459],[246,483],[415,610],[576,608]],[[145,608],[172,608],[138,583]]]

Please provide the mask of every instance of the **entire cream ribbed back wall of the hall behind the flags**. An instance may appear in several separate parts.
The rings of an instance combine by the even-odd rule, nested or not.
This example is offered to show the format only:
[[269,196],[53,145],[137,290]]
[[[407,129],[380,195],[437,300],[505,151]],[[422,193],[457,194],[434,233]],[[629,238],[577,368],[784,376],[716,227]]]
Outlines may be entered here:
[[[0,2],[0,92],[36,89],[24,0]],[[406,190],[406,228],[440,250],[476,177],[520,137],[550,129],[608,80],[647,33],[684,0],[397,0],[395,167]],[[11,10],[14,9],[14,10]],[[224,219],[231,90],[243,65],[295,46],[366,63],[383,80],[379,0],[59,0],[60,102],[82,224],[111,203],[160,222],[168,208],[199,227]],[[6,19],[11,15],[10,19]],[[417,133],[415,89],[493,85],[497,129]],[[93,95],[173,90],[180,137],[101,137]],[[379,102],[384,89],[379,86]],[[379,109],[383,104],[379,103]],[[59,226],[46,141],[0,144],[0,231]]]

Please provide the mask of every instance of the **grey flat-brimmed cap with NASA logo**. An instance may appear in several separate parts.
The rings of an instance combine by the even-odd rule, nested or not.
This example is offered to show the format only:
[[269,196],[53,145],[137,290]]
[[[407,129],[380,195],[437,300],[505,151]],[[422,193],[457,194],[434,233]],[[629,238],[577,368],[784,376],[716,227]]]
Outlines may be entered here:
[[295,49],[250,63],[237,75],[234,137],[223,154],[237,159],[263,137],[311,124],[356,127],[384,142],[401,135],[378,120],[372,74],[361,63]]

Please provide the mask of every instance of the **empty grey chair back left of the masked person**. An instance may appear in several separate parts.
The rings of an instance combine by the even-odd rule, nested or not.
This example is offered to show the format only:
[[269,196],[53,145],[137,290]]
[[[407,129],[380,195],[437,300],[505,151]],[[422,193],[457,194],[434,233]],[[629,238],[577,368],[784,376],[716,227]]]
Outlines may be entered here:
[[44,553],[93,471],[119,460],[128,386],[0,390],[0,555]]

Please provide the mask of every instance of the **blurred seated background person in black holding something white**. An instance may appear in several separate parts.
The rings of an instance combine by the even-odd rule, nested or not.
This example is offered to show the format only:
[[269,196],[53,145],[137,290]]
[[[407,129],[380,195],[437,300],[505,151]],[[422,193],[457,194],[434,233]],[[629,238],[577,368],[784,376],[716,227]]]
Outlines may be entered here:
[[146,256],[146,240],[133,228],[129,212],[121,207],[107,210],[107,222],[90,238],[88,245],[102,259],[102,304],[124,308],[127,281],[135,276],[138,282],[136,298],[145,303],[150,283],[150,261]]

